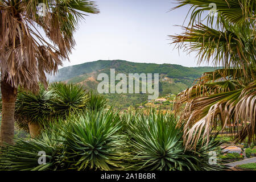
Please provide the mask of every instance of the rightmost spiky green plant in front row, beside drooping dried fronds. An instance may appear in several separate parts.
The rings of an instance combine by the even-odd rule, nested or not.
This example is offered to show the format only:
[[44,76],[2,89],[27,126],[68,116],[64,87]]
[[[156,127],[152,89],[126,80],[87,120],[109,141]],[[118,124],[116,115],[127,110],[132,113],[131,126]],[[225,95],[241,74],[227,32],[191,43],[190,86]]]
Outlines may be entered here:
[[[209,164],[209,151],[214,151],[221,142],[211,140],[201,149],[185,150],[183,132],[177,126],[171,113],[156,113],[135,118],[135,125],[128,129],[130,147],[130,166],[135,170],[210,170],[221,166]],[[199,142],[201,143],[201,141]]]

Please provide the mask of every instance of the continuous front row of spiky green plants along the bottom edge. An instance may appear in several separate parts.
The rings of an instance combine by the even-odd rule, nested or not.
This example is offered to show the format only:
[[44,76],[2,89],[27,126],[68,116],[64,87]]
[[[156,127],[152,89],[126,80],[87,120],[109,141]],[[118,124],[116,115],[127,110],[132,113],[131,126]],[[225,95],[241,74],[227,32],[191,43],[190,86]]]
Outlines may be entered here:
[[[17,139],[0,152],[5,170],[211,170],[209,151],[220,142],[185,150],[173,114],[152,110],[119,115],[87,110],[49,123],[35,139]],[[39,151],[46,164],[38,164]]]

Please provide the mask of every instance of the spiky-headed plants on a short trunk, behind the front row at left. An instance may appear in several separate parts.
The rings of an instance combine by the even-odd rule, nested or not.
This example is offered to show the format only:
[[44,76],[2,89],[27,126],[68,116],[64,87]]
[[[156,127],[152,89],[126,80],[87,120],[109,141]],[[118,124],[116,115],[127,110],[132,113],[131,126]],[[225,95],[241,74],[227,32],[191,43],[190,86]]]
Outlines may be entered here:
[[48,90],[41,85],[36,94],[20,89],[15,103],[15,124],[36,137],[47,123],[85,110],[87,102],[88,92],[81,85],[55,82]]

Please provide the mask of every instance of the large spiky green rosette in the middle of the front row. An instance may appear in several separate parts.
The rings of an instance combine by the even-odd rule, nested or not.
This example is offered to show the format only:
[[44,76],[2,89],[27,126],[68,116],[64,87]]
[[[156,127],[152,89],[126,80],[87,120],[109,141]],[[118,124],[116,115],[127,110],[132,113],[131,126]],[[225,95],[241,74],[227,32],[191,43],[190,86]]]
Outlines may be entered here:
[[113,170],[122,168],[123,136],[118,113],[88,111],[68,118],[63,138],[71,169]]

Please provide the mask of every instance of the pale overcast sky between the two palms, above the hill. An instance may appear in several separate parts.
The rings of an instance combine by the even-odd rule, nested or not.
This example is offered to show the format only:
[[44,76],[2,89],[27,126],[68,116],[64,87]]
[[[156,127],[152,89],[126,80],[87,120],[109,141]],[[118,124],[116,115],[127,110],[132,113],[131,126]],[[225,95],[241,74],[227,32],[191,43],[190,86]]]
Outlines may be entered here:
[[71,62],[65,61],[64,67],[116,59],[197,66],[195,53],[174,49],[168,38],[182,32],[175,25],[183,24],[189,6],[169,11],[176,6],[174,0],[95,1],[101,13],[81,22]]

